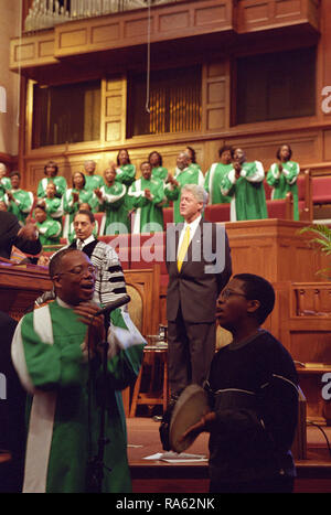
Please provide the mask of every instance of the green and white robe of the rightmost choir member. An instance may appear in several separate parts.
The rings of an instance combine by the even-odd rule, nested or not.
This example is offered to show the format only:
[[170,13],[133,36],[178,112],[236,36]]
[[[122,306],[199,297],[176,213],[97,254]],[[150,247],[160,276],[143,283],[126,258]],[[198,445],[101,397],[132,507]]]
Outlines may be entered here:
[[277,163],[271,164],[267,173],[267,183],[273,187],[271,199],[285,199],[288,192],[293,196],[293,219],[299,221],[299,200],[297,179],[300,173],[299,163],[287,161],[281,163],[282,173]]

